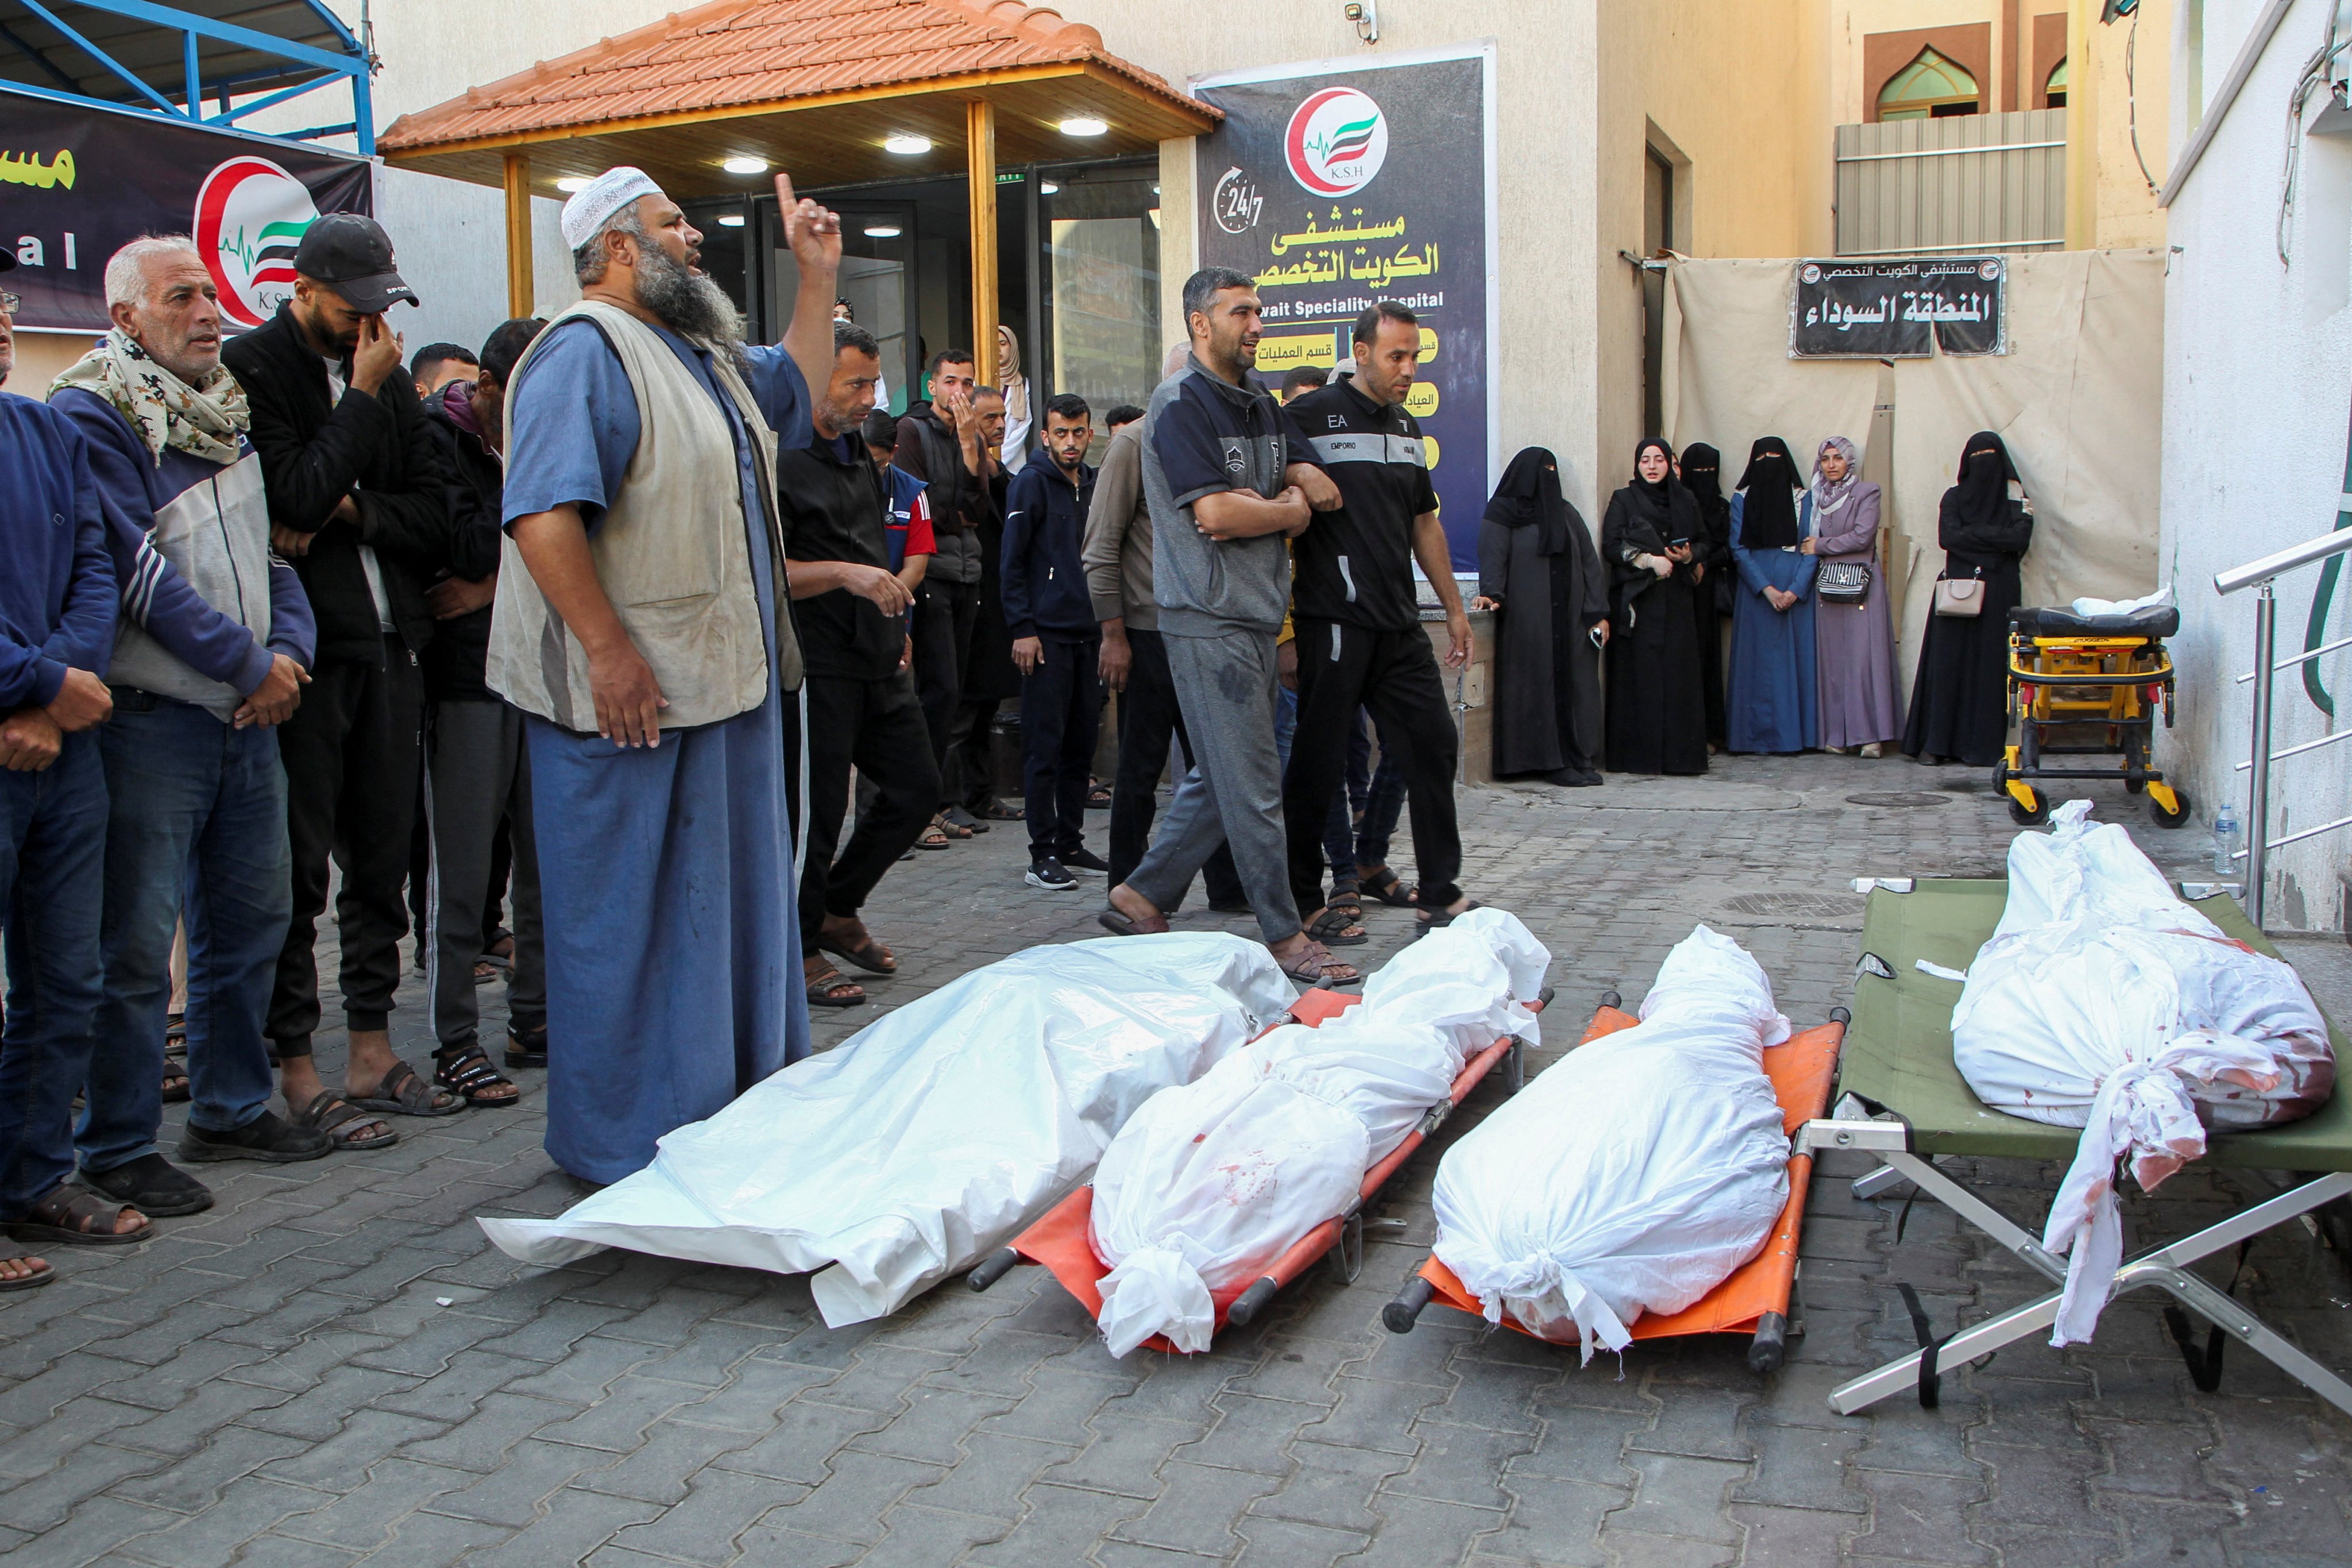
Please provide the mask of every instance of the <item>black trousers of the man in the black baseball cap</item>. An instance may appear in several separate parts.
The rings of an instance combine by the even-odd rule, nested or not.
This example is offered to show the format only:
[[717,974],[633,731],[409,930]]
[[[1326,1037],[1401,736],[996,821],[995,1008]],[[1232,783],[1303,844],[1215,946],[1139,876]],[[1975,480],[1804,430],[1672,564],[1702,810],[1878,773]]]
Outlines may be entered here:
[[278,1056],[310,1056],[320,1020],[318,917],[327,912],[327,860],[343,872],[334,903],[343,940],[343,1023],[381,1030],[400,985],[409,931],[402,889],[423,769],[423,677],[395,635],[383,665],[329,663],[310,672],[301,708],[278,726],[294,851],[294,919],[278,954],[268,1037]]

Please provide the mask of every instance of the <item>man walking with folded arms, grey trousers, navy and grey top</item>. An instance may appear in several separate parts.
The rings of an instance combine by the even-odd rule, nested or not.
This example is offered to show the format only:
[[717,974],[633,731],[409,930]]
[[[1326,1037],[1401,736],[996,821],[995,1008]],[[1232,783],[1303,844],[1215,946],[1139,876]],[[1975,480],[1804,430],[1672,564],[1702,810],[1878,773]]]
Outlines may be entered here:
[[1143,416],[1143,496],[1152,510],[1152,599],[1192,743],[1160,837],[1101,922],[1122,936],[1167,931],[1192,875],[1232,846],[1258,933],[1303,985],[1362,976],[1298,926],[1275,752],[1275,637],[1289,607],[1284,538],[1338,505],[1308,442],[1249,369],[1258,360],[1256,284],[1202,268],[1183,287],[1192,357]]

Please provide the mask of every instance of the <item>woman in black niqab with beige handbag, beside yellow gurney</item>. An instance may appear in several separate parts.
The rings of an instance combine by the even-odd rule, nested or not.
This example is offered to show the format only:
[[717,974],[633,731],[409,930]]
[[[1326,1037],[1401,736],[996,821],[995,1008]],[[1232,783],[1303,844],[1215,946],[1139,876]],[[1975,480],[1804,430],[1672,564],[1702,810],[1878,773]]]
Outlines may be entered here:
[[2018,607],[2018,559],[2034,541],[2034,508],[2009,494],[2018,470],[1992,430],[1962,447],[1959,482],[1943,491],[1936,543],[1943,576],[1983,578],[1976,616],[1929,616],[1919,642],[1903,752],[1990,769],[2009,748],[2009,611]]

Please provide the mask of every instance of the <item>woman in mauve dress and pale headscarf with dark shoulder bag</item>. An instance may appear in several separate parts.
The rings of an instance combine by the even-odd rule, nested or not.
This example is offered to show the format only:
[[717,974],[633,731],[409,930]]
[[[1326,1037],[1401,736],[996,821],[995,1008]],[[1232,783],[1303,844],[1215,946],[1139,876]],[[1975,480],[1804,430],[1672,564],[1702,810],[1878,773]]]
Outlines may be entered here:
[[[1825,574],[1813,592],[1813,679],[1820,689],[1820,745],[1882,755],[1903,738],[1896,703],[1896,637],[1886,611],[1886,574],[1877,562],[1879,487],[1863,477],[1863,458],[1844,435],[1813,456],[1813,536],[1799,550],[1828,567],[1858,567],[1860,602]],[[1844,574],[1856,576],[1853,571]]]

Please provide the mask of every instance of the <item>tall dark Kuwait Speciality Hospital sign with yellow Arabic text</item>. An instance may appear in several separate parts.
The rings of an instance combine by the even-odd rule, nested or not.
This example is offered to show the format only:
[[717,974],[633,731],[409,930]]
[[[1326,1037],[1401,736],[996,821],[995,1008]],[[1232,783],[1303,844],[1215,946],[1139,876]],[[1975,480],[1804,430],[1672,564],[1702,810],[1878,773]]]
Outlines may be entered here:
[[1200,263],[1258,282],[1258,376],[1350,357],[1355,317],[1421,317],[1404,407],[1421,421],[1456,569],[1501,475],[1496,409],[1494,47],[1195,78],[1225,110],[1197,143]]

